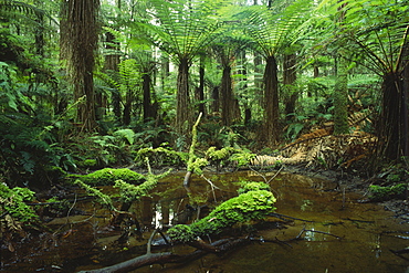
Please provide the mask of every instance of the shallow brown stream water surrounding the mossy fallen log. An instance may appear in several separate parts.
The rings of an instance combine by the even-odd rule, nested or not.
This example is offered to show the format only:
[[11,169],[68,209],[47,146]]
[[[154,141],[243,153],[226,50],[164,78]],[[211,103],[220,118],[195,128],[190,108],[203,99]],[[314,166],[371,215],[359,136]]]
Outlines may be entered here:
[[[17,248],[11,253],[1,250],[1,272],[76,272],[112,265],[146,252],[153,229],[177,222],[189,222],[216,206],[237,196],[239,181],[262,181],[254,172],[207,175],[216,187],[202,178],[192,177],[191,193],[181,186],[185,174],[161,180],[151,198],[134,203],[132,210],[144,231],[138,239],[134,221],[124,231],[109,229],[111,213],[92,201],[75,203],[75,210],[87,213],[54,219],[48,225],[53,234]],[[263,174],[269,179],[272,174]],[[153,265],[136,272],[291,272],[291,273],[408,273],[409,262],[391,252],[408,246],[409,225],[399,223],[394,214],[374,203],[359,203],[356,193],[338,190],[335,182],[280,174],[272,181],[277,198],[276,212],[297,218],[283,222],[268,219],[253,242],[224,255],[208,254],[183,265]],[[107,188],[106,190],[112,190]],[[202,206],[195,210],[189,204]],[[72,210],[74,211],[74,210]],[[305,230],[301,239],[293,240]],[[274,242],[271,242],[274,241]],[[189,253],[189,246],[154,248],[153,252]],[[408,255],[408,254],[403,254]],[[408,258],[408,256],[406,256]]]

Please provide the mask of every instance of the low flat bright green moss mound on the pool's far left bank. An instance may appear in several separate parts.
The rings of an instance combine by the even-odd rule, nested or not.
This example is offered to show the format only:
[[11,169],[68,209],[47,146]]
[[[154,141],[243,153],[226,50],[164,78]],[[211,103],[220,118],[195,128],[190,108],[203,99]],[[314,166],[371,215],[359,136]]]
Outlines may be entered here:
[[75,176],[75,178],[94,186],[114,185],[116,180],[124,180],[128,183],[141,183],[145,180],[143,175],[127,168],[105,168],[85,176]]

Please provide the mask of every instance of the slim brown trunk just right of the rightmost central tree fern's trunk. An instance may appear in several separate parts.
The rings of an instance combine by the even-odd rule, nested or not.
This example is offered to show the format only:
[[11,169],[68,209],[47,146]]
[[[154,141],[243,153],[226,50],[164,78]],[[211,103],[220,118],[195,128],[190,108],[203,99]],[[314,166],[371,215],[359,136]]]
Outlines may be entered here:
[[296,55],[295,54],[285,54],[284,55],[284,63],[283,63],[283,84],[286,87],[286,95],[285,95],[285,117],[287,120],[294,118],[294,116],[290,115],[295,113],[295,103],[298,98],[298,92],[295,90],[294,83],[296,81]]

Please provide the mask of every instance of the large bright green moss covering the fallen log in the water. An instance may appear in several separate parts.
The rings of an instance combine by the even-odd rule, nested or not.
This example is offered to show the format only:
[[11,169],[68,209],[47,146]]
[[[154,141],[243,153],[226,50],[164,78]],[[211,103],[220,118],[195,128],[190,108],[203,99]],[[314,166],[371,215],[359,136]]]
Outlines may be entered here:
[[275,210],[273,206],[275,201],[273,193],[266,190],[242,193],[221,203],[209,216],[188,228],[181,224],[175,225],[169,230],[170,238],[186,242],[189,238],[220,233],[237,223],[262,220]]

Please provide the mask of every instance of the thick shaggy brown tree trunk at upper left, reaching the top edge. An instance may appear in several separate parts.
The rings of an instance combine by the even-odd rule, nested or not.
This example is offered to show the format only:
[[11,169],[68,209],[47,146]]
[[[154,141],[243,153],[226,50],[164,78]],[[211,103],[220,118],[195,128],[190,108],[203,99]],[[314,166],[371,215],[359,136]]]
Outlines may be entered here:
[[67,54],[69,71],[74,85],[74,99],[84,98],[78,104],[77,122],[83,129],[96,129],[94,92],[94,52],[98,41],[97,13],[98,0],[69,0],[66,28],[67,39],[64,50]]

